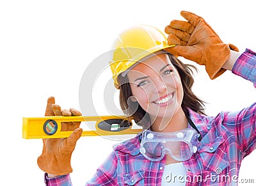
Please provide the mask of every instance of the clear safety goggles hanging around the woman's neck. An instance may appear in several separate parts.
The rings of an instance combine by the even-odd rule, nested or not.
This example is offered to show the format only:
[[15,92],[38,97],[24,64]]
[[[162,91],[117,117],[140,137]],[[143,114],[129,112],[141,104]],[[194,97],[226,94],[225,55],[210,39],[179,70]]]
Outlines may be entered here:
[[193,128],[185,128],[177,132],[144,130],[140,151],[145,158],[152,161],[163,159],[166,153],[175,160],[185,161],[197,151],[199,135]]

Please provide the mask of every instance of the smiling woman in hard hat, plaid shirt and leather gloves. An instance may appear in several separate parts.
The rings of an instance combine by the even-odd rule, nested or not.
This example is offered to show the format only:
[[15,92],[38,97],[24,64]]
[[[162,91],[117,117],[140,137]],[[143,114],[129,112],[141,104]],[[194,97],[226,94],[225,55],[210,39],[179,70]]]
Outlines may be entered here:
[[[120,88],[120,104],[145,130],[117,144],[87,185],[237,184],[241,160],[255,149],[256,104],[240,112],[206,116],[202,100],[191,91],[189,66],[175,56],[205,65],[211,79],[232,70],[256,87],[256,54],[248,49],[239,54],[234,45],[221,42],[204,19],[190,12],[181,14],[188,22],[173,20],[166,27],[169,45],[158,40],[160,31],[148,27],[147,32],[136,28],[141,36],[132,37],[136,41],[132,45],[127,44],[131,30],[116,42],[110,66],[115,87]],[[146,33],[154,44],[140,41]],[[45,114],[60,115],[60,107],[52,104],[50,98]],[[74,124],[67,123],[67,128],[79,127]],[[38,166],[48,173],[47,185],[71,185],[70,157],[80,136],[77,128],[67,139],[44,139]]]

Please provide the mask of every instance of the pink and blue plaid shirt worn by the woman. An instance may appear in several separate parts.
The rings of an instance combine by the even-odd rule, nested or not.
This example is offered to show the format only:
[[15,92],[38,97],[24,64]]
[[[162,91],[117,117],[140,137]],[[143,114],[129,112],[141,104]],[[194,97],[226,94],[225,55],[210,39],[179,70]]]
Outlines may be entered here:
[[[232,72],[253,82],[256,88],[256,53],[246,49]],[[186,185],[237,185],[241,161],[256,148],[256,103],[239,112],[220,112],[214,117],[188,111],[202,140],[198,151],[183,162]],[[166,160],[145,159],[140,153],[140,137],[138,134],[116,144],[86,185],[161,185]],[[72,185],[69,174],[56,178],[45,174],[45,184]]]

